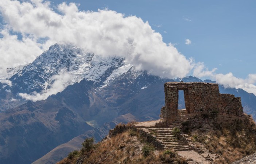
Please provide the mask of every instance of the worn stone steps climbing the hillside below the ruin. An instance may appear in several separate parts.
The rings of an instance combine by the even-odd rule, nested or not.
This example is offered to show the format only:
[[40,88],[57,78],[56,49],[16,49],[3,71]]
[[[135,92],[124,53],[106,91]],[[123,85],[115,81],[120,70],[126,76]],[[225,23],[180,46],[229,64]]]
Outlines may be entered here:
[[172,135],[172,128],[144,128],[143,130],[156,136],[156,139],[162,143],[164,149],[171,149],[174,151],[192,150],[189,145]]

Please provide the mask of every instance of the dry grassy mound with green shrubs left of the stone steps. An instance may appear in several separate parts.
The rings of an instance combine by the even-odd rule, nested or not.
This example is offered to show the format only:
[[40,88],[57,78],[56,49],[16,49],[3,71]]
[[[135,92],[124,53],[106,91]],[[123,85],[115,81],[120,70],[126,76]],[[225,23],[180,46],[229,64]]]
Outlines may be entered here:
[[[118,126],[118,130],[120,130]],[[123,130],[121,130],[123,131]],[[158,151],[152,145],[144,142],[142,136],[135,129],[128,129],[112,138],[108,138],[84,154],[79,151],[60,161],[58,164],[81,163],[136,163],[136,164],[160,164],[177,163],[186,164],[186,160],[174,152]],[[146,150],[146,151],[145,151]],[[147,153],[145,155],[144,153]],[[71,153],[72,154],[72,153]]]

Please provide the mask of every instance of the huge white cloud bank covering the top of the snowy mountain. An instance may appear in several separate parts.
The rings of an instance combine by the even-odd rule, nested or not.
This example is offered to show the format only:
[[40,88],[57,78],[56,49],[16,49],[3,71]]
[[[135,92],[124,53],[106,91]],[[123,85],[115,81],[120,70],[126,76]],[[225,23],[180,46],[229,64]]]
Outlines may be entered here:
[[[0,53],[2,69],[31,62],[56,42],[71,42],[100,55],[122,56],[137,69],[162,77],[184,77],[193,67],[173,45],[164,43],[148,22],[136,16],[109,10],[79,11],[74,3],[59,4],[57,10],[42,0],[0,1],[7,24],[2,40],[8,40],[0,47],[0,52],[5,52]],[[10,30],[21,33],[23,39],[19,41],[8,33]],[[49,39],[39,44],[36,41],[40,38]],[[10,62],[11,58],[15,60]]]

